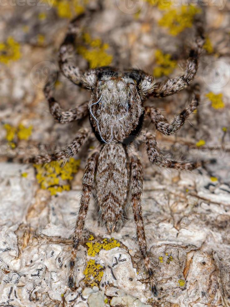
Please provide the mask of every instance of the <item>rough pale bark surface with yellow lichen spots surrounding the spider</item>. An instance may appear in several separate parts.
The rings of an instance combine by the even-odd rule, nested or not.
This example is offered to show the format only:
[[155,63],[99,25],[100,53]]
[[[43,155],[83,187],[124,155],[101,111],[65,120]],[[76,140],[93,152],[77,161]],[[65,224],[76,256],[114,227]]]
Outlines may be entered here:
[[[201,85],[197,112],[176,136],[156,136],[163,153],[173,159],[216,161],[199,171],[170,172],[153,167],[145,147],[140,147],[143,215],[158,296],[151,295],[138,252],[132,209],[128,208],[124,226],[110,236],[98,225],[93,197],[76,258],[76,289],[67,287],[69,237],[87,148],[95,141],[74,157],[74,172],[69,172],[69,164],[61,172],[58,164],[54,169],[47,165],[44,173],[20,159],[61,148],[74,139],[79,127],[89,125],[87,120],[63,126],[54,122],[43,95],[50,72],[57,79],[55,96],[64,109],[89,100],[89,92],[57,73],[58,48],[69,19],[87,5],[97,9],[79,38],[81,55],[75,60],[82,69],[111,63],[120,69],[155,71],[163,80],[168,74],[182,74],[197,10],[162,9],[161,3],[154,6],[149,0],[125,7],[127,2],[114,0],[102,1],[100,11],[97,2],[55,0],[52,6],[45,1],[45,6],[33,9],[28,3],[1,6],[0,305],[229,306],[228,2],[220,9],[211,3],[204,7],[207,36],[195,80]],[[184,90],[173,97],[149,99],[146,105],[162,109],[170,119],[190,94]],[[146,127],[154,129],[148,121]]]

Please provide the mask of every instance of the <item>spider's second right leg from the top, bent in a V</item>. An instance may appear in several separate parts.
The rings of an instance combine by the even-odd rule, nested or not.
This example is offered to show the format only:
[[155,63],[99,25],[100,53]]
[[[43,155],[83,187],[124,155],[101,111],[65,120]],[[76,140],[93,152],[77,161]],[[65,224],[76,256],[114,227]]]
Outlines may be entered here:
[[160,110],[154,107],[146,107],[146,113],[150,116],[152,123],[156,129],[163,134],[171,135],[181,128],[187,117],[196,110],[200,100],[198,92],[192,94],[192,99],[189,105],[169,123],[161,114]]

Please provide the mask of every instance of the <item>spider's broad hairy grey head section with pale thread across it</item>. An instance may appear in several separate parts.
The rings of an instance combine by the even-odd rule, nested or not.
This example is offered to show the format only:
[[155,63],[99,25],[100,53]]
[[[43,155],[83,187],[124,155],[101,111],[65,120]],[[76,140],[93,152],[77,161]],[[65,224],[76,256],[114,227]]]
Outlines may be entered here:
[[144,109],[133,79],[103,76],[89,102],[90,122],[104,143],[129,143],[139,132]]

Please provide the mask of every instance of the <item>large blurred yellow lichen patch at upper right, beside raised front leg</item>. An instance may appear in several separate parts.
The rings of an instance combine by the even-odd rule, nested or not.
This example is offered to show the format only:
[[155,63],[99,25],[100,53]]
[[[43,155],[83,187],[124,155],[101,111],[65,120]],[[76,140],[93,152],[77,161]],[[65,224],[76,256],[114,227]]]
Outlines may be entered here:
[[200,8],[194,5],[182,5],[180,9],[170,9],[158,21],[161,27],[169,29],[171,35],[176,36],[186,28],[191,28],[194,17],[200,13]]

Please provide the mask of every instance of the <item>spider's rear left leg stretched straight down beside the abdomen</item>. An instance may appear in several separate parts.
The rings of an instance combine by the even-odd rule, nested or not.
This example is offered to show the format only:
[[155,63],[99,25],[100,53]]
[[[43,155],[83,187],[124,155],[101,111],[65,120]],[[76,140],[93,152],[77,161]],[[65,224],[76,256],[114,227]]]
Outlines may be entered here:
[[73,246],[71,252],[71,258],[69,261],[69,278],[68,278],[68,286],[70,288],[74,288],[74,266],[75,266],[75,259],[77,255],[77,249],[79,246],[79,242],[82,238],[82,232],[84,229],[85,218],[89,208],[91,190],[94,183],[94,174],[97,165],[97,160],[99,157],[100,150],[95,150],[91,156],[89,157],[82,179],[82,193],[81,193],[81,200],[80,200],[80,208],[78,212],[78,217],[74,229],[74,236],[73,236]]

